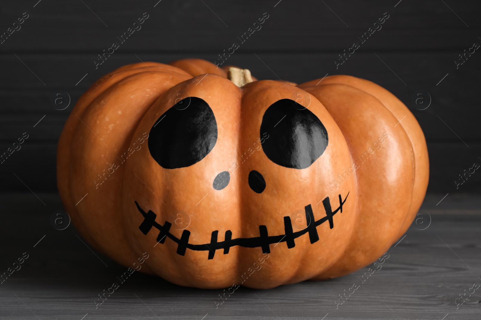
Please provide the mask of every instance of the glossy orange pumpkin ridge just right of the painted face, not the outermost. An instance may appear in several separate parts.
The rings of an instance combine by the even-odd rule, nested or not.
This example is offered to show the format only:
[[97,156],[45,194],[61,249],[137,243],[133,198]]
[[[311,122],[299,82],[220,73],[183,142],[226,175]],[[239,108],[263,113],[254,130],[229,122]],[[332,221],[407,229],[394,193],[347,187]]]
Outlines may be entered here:
[[[353,132],[349,131],[350,129],[348,129],[349,128],[348,125],[347,125],[348,123],[349,123],[349,126],[352,127],[353,125],[356,125],[355,123],[359,123],[359,126],[361,126],[361,123],[363,123],[363,122],[360,122],[360,121],[367,121],[367,123],[369,123],[369,125],[371,126],[371,127],[369,127],[369,129],[372,130],[371,128],[374,125],[379,127],[381,125],[380,123],[385,123],[385,124],[383,124],[383,126],[387,126],[388,123],[392,122],[392,125],[390,125],[390,127],[389,127],[390,128],[389,132],[391,134],[388,135],[388,136],[393,136],[393,138],[391,138],[391,139],[394,139],[393,142],[395,142],[395,144],[392,145],[392,147],[397,146],[398,143],[406,143],[407,145],[410,145],[410,143],[411,143],[410,139],[409,139],[409,137],[408,137],[408,135],[407,135],[407,133],[405,132],[404,129],[395,128],[395,127],[392,128],[394,126],[394,124],[397,122],[397,119],[394,117],[392,112],[390,110],[388,110],[384,106],[384,104],[382,104],[379,101],[379,99],[377,99],[375,96],[370,95],[369,93],[367,93],[367,92],[365,92],[361,89],[355,88],[355,87],[353,87],[349,84],[344,84],[344,83],[325,83],[325,84],[319,85],[319,86],[313,86],[313,85],[307,86],[305,84],[302,84],[302,85],[300,85],[300,87],[303,88],[304,90],[306,90],[307,92],[311,93],[312,95],[315,95],[318,99],[320,98],[321,103],[323,103],[324,106],[326,106],[329,113],[333,116],[334,119],[336,119],[336,123],[338,123],[341,126],[341,130],[342,130],[343,134],[344,135],[346,135],[346,133],[348,134],[348,136],[346,136],[346,141],[348,142],[349,151],[350,151],[352,157],[354,157],[356,155],[355,153],[359,153],[359,152],[362,153],[363,152],[363,151],[361,151],[362,149],[360,149],[360,145],[357,146],[356,148],[353,148],[353,146],[356,145],[356,144],[353,145],[354,142],[367,145],[368,143],[372,143],[371,139],[373,139],[376,142],[377,142],[377,140],[375,140],[375,138],[369,136],[370,131],[367,131],[365,133],[359,133],[357,135],[358,137],[356,135],[353,135]],[[335,95],[334,93],[337,93],[337,95]],[[348,105],[342,105],[343,103],[345,103],[343,99],[347,99],[348,96],[353,99],[352,101],[356,101],[357,109],[353,109],[354,107],[348,107]],[[369,105],[367,105],[366,99],[370,99]],[[351,103],[351,104],[354,104],[354,102]],[[341,113],[340,110],[344,110],[343,113]],[[370,115],[372,114],[372,112],[374,112],[374,110],[376,110],[377,113],[380,113],[382,115],[382,117],[380,117],[380,119],[383,119],[383,121],[378,120],[378,122],[374,122],[372,120],[372,119],[375,119],[376,117],[379,117],[378,114],[376,114],[376,115],[373,114],[372,118],[367,118],[367,117],[370,117]],[[381,111],[381,110],[384,110],[384,111]],[[355,115],[356,118],[354,118],[354,115]],[[342,117],[344,117],[346,120],[343,120]],[[355,121],[355,122],[353,122],[353,121]],[[387,122],[385,122],[385,121],[387,121]],[[363,128],[363,126],[364,125],[362,125],[361,128]],[[359,128],[359,129],[361,129],[361,128]],[[380,127],[380,129],[378,129],[378,130],[386,130],[386,129],[383,129],[382,127]],[[378,134],[381,134],[381,132],[382,131],[380,131]],[[394,135],[393,132],[395,132],[395,135]],[[366,135],[366,137],[367,137],[366,139],[368,139],[369,141],[367,141],[365,138],[362,138],[364,140],[362,140],[362,139],[359,140],[360,139],[359,137],[363,137],[364,135]],[[397,142],[398,140],[399,140],[399,142]],[[386,147],[389,147],[389,145],[387,145]],[[367,147],[364,147],[364,148],[367,148]],[[359,150],[355,151],[356,149],[359,149]],[[402,150],[405,150],[405,149],[397,147],[397,150],[402,151]],[[374,152],[374,149],[373,149],[373,152]],[[366,159],[364,162],[366,162],[367,160],[371,160],[371,161],[368,162],[367,164],[364,164],[364,165],[361,164],[360,168],[355,170],[355,171],[358,171],[358,173],[360,174],[359,176],[356,176],[358,178],[357,184],[358,184],[358,189],[360,190],[360,194],[362,194],[363,197],[367,197],[368,191],[365,190],[365,188],[363,186],[366,185],[367,181],[372,181],[373,185],[371,185],[371,188],[374,189],[375,186],[377,185],[378,188],[380,188],[380,191],[377,191],[377,192],[384,192],[384,196],[394,197],[394,199],[396,199],[395,201],[397,201],[397,202],[399,200],[402,201],[402,199],[397,196],[395,191],[391,190],[391,189],[396,190],[396,188],[399,189],[399,187],[397,185],[397,182],[396,182],[395,185],[391,184],[391,188],[388,187],[389,189],[386,190],[385,186],[388,186],[389,183],[386,184],[377,175],[374,176],[374,175],[371,174],[371,176],[374,177],[374,178],[366,176],[366,173],[365,173],[365,172],[367,172],[366,170],[368,168],[370,168],[371,166],[373,166],[373,164],[371,164],[371,162],[376,161],[376,159],[380,160],[379,156],[382,156],[382,155],[383,154],[378,154],[377,155],[378,158],[373,158],[374,160],[372,160],[371,158]],[[386,157],[388,155],[389,155],[389,152],[386,151],[384,153],[383,157]],[[381,158],[383,158],[383,157],[381,157]],[[411,158],[412,158],[412,154],[409,150],[409,159],[411,159]],[[380,163],[380,165],[382,165],[382,163]],[[384,166],[384,165],[382,165],[382,166]],[[411,168],[411,170],[413,169],[412,164],[410,164],[409,167]],[[397,168],[397,170],[399,170],[399,168]],[[374,172],[374,173],[376,173],[376,172]],[[380,174],[379,171],[377,173],[378,173],[378,175]],[[381,175],[381,177],[382,177],[382,175]],[[396,177],[399,178],[399,179],[403,178],[403,176],[396,176]],[[376,180],[373,180],[373,179],[376,179]],[[371,182],[369,182],[369,183],[371,183]],[[404,194],[405,194],[408,197],[408,199],[412,199],[412,191],[413,191],[413,189],[412,189],[412,175],[409,178],[409,185],[411,186],[409,188],[409,190],[402,191],[403,193],[401,194],[401,196],[403,198],[405,197],[404,196]],[[393,196],[391,192],[394,193],[395,196]],[[398,190],[397,192],[400,192],[400,191]],[[379,197],[379,195],[377,195],[377,197]],[[398,198],[399,198],[399,200],[397,200]],[[405,201],[409,201],[408,199],[406,198]],[[369,201],[373,201],[373,199],[364,198],[363,201],[364,201],[364,203],[363,202],[359,203],[360,211],[359,211],[358,217],[359,217],[359,219],[363,219],[363,220],[359,220],[360,222],[361,221],[368,221],[368,220],[366,220],[366,219],[368,219],[367,217],[363,217],[363,215],[367,214],[366,213],[367,208],[365,206],[366,206],[367,203],[369,203]],[[410,205],[410,202],[409,202],[409,205]],[[404,207],[402,203],[401,203],[401,207]],[[395,215],[392,215],[392,213],[388,213],[388,211],[386,211],[386,210],[382,211],[380,208],[382,208],[382,206],[380,206],[380,205],[378,205],[376,207],[376,210],[377,210],[376,212],[379,212],[378,225],[383,225],[383,228],[386,229],[386,228],[388,228],[388,225],[386,225],[386,224],[387,223],[391,224],[389,226],[389,228],[390,229],[396,228],[396,235],[397,235],[397,232],[398,232],[397,230],[399,230],[399,228],[401,228],[402,222],[405,221],[406,215],[409,214],[409,206],[407,206],[407,208],[396,209],[397,213],[395,213]],[[397,221],[397,222],[394,222],[394,221]],[[365,224],[365,223],[366,222],[363,222],[363,224]],[[392,225],[393,223],[395,223],[395,225]],[[362,226],[360,226],[360,227],[362,227]],[[380,252],[382,248],[376,247],[377,251],[375,251],[375,252],[377,252],[377,253],[374,253],[374,255],[376,256],[376,257],[374,257],[373,252],[370,252],[369,250],[367,250],[364,247],[359,247],[360,239],[358,237],[360,237],[360,234],[358,232],[355,231],[355,232],[351,233],[350,236],[351,236],[350,237],[350,244],[347,247],[348,249],[346,251],[344,251],[342,253],[342,255],[340,256],[342,261],[347,261],[347,264],[349,265],[349,267],[348,268],[345,267],[346,262],[344,262],[344,263],[338,262],[338,263],[334,264],[333,266],[331,266],[327,272],[324,272],[321,275],[319,275],[318,277],[315,277],[315,279],[324,279],[326,277],[339,276],[339,275],[343,275],[343,274],[346,274],[346,273],[349,273],[349,272],[353,272],[355,270],[358,270],[358,269],[364,267],[370,261],[374,261],[376,258],[378,258],[378,254],[379,255],[382,254],[382,252]],[[380,235],[378,237],[380,237]],[[392,234],[389,234],[389,237],[390,237],[390,240],[389,240],[390,243],[389,244],[384,244],[384,241],[387,241],[387,239],[384,239],[384,238],[382,238],[382,240],[380,240],[380,242],[379,242],[379,243],[383,244],[383,247],[386,247],[385,249],[387,249],[388,246],[390,246],[392,244],[392,242],[394,242],[397,239],[397,238],[393,238]],[[361,238],[362,238],[362,236],[361,236]],[[366,237],[364,237],[364,239],[366,239]],[[370,240],[370,242],[373,241],[372,239]],[[371,243],[370,246],[375,246],[375,245]],[[357,249],[355,249],[355,248],[357,248]],[[375,248],[375,247],[373,247],[373,248]],[[362,262],[357,262],[359,260],[359,258],[353,256],[352,250],[358,250],[359,251],[359,257],[361,257],[361,256],[364,257],[363,255],[367,254],[368,255],[368,257],[366,257],[367,260],[366,261],[361,260]],[[382,250],[384,250],[384,249],[382,249]],[[367,262],[367,261],[369,261],[369,262]],[[336,269],[333,269],[333,268],[336,268]],[[337,271],[337,270],[339,270],[339,271]]]

